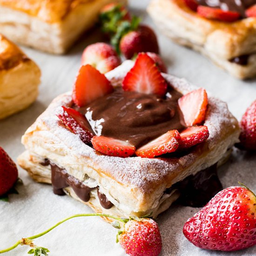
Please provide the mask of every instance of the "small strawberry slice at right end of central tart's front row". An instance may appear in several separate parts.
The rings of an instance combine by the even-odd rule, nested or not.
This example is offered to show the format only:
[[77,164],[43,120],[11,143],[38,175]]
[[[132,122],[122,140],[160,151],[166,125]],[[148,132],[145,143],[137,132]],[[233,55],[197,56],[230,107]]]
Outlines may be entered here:
[[207,140],[208,137],[209,131],[207,126],[191,126],[182,131],[179,149],[195,146]]

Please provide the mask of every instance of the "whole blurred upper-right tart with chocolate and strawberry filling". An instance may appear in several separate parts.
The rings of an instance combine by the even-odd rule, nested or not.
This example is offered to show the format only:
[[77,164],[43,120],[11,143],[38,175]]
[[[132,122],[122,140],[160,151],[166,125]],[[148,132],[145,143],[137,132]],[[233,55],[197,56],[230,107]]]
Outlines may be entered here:
[[239,79],[256,76],[255,0],[151,0],[148,13],[178,44]]

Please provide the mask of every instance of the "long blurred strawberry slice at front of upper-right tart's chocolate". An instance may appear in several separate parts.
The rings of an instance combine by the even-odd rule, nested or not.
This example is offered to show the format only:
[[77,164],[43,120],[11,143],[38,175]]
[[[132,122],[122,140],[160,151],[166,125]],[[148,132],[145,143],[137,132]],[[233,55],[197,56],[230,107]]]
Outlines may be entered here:
[[234,22],[239,20],[240,13],[233,11],[223,11],[219,8],[207,7],[207,6],[198,6],[197,13],[210,20],[220,20],[224,22]]

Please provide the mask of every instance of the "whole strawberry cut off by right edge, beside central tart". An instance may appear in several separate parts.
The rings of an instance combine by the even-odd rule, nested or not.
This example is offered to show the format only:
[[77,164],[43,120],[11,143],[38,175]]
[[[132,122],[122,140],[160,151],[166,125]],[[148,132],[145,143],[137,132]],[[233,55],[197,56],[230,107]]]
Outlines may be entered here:
[[240,147],[248,150],[256,150],[256,100],[247,108],[241,123]]

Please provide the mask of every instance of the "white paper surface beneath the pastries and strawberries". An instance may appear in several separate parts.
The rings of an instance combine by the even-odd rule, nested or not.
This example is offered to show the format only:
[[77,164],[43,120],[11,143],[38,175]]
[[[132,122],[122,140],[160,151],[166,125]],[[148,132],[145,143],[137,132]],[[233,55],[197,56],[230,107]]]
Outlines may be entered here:
[[[139,3],[138,3],[139,2]],[[143,17],[143,22],[155,28],[145,12],[147,0],[132,0],[132,12]],[[156,29],[155,29],[156,30]],[[228,102],[230,111],[240,120],[249,104],[256,99],[256,80],[238,81],[214,66],[207,59],[187,48],[180,47],[156,30],[161,53],[170,74],[185,77],[199,87]],[[80,66],[81,53],[88,44],[101,41],[98,31],[85,35],[64,56],[54,56],[23,47],[27,55],[38,63],[42,71],[40,95],[37,101],[23,112],[0,121],[0,146],[16,157],[23,151],[20,137],[42,113],[55,96],[72,88],[75,74]],[[256,155],[234,150],[230,161],[222,166],[220,178],[224,187],[241,181],[256,191]],[[68,196],[54,195],[49,185],[35,183],[19,168],[24,185],[19,195],[11,195],[10,202],[0,202],[0,249],[11,246],[21,237],[37,234],[61,219],[91,210]],[[200,255],[256,255],[256,247],[240,252],[223,253],[206,251],[190,244],[182,235],[186,220],[199,209],[172,206],[157,219],[163,249],[162,256]],[[97,217],[70,220],[49,234],[35,240],[35,244],[47,247],[51,256],[122,256],[125,255],[115,243],[116,229]],[[19,246],[6,256],[27,255],[29,248]]]

